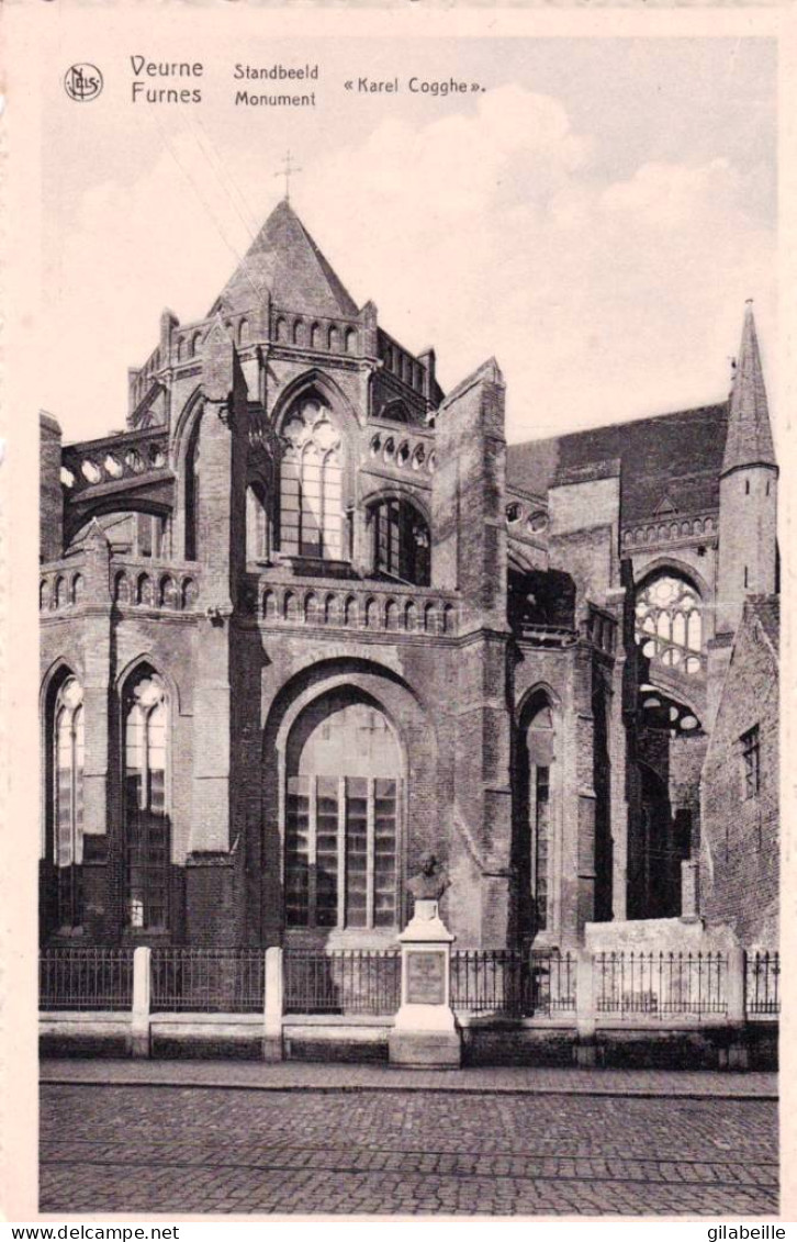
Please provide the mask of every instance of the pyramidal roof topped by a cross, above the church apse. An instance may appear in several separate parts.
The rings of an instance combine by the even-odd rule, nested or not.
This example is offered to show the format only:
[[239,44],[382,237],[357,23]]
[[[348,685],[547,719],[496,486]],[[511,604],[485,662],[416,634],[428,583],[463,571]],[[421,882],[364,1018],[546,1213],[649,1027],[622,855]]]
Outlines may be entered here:
[[266,294],[289,310],[336,318],[358,314],[344,288],[287,200],[274,207],[238,267],[214,303],[226,310],[247,310]]

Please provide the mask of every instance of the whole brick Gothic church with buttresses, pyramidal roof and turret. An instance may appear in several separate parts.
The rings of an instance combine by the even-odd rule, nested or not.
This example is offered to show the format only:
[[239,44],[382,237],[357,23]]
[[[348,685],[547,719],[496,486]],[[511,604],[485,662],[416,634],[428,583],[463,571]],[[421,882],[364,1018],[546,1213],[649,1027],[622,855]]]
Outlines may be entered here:
[[427,850],[463,946],[677,917],[690,859],[755,940],[777,466],[750,308],[727,401],[508,446],[498,364],[443,392],[283,202],[129,394],[102,440],[41,420],[46,943],[389,945]]

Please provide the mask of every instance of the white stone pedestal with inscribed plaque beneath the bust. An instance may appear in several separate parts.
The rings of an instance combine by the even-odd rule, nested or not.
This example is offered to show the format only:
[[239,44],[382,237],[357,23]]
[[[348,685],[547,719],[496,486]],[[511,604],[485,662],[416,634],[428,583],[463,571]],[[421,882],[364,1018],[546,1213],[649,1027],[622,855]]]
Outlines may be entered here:
[[451,1007],[453,935],[437,902],[416,900],[398,936],[401,1009],[389,1038],[391,1066],[451,1069],[462,1064],[462,1040]]

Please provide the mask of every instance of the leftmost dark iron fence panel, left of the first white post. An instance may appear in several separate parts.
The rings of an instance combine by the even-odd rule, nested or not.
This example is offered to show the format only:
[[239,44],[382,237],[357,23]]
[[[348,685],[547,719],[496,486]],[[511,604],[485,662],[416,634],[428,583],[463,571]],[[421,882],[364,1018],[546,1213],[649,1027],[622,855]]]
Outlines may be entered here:
[[41,1010],[129,1010],[132,949],[43,949],[38,955]]

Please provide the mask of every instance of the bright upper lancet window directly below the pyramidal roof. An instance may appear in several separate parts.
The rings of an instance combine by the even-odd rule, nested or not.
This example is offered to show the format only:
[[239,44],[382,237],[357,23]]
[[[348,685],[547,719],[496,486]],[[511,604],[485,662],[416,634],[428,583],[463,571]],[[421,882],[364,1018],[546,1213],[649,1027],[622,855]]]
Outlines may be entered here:
[[279,538],[293,556],[341,556],[343,447],[330,411],[300,397],[282,428]]

